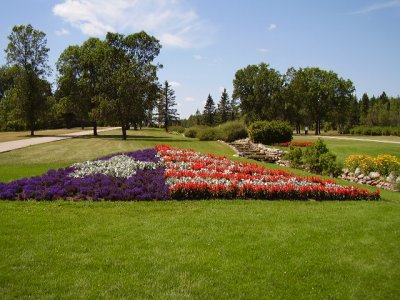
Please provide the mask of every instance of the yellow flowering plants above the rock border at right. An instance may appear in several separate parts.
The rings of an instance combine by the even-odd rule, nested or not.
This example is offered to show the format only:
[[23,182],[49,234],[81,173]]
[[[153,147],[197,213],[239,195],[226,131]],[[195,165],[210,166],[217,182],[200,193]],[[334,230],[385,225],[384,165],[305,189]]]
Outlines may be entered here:
[[346,158],[344,166],[354,172],[359,168],[364,174],[379,172],[382,176],[388,176],[391,172],[400,174],[400,158],[381,154],[376,157],[370,155],[350,155]]

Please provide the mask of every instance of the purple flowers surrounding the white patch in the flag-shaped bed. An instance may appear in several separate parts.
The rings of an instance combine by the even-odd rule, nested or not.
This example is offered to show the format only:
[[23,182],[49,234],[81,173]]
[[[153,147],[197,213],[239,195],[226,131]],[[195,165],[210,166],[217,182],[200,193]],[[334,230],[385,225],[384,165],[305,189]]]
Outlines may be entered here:
[[[113,154],[99,160],[109,160]],[[146,149],[123,153],[141,162],[160,161],[156,150]],[[0,199],[8,200],[165,200],[170,199],[164,178],[164,167],[137,170],[129,178],[112,177],[104,174],[82,178],[71,176],[76,169],[68,167],[50,170],[42,176],[23,178],[9,183],[0,183]]]

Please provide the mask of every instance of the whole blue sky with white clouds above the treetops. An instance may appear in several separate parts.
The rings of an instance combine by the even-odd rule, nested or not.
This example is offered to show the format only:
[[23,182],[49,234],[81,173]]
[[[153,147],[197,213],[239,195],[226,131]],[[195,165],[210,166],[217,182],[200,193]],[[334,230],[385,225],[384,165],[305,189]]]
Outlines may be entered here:
[[174,86],[181,117],[202,110],[209,93],[215,102],[223,88],[231,95],[235,72],[261,62],[281,73],[332,70],[358,96],[400,95],[400,0],[6,0],[0,49],[16,24],[46,33],[51,81],[69,45],[107,31],[156,36],[160,81]]

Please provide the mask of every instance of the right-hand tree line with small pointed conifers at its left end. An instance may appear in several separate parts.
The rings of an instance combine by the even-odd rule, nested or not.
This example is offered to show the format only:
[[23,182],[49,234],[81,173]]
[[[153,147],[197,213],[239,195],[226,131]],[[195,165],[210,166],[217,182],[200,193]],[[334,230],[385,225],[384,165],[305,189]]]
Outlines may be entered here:
[[[321,130],[335,129],[347,133],[356,125],[400,126],[400,98],[389,98],[385,92],[379,97],[367,94],[359,100],[351,80],[343,79],[333,71],[319,68],[289,68],[285,74],[266,63],[249,65],[236,72],[233,94],[228,107],[235,108],[230,119],[254,121],[285,120],[297,133],[304,127]],[[226,93],[226,90],[225,90]],[[205,125],[223,123],[225,103],[221,97],[218,108],[211,96],[201,114],[199,111],[188,119]],[[211,98],[211,99],[210,99]],[[229,114],[228,114],[229,115]]]

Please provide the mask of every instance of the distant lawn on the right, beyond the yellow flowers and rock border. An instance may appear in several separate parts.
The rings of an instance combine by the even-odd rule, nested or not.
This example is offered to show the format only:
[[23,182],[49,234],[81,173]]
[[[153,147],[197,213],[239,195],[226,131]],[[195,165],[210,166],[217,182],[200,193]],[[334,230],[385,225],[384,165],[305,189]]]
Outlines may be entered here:
[[[329,150],[336,154],[339,161],[344,161],[351,154],[367,154],[372,156],[377,156],[379,154],[391,154],[395,156],[400,156],[400,144],[393,143],[378,143],[370,141],[354,141],[346,140],[346,138],[351,138],[351,136],[343,137],[343,139],[330,139],[321,137],[325,144],[328,146]],[[354,138],[361,138],[354,136]],[[379,137],[366,137],[365,139],[379,139]],[[383,137],[382,137],[383,138]],[[399,141],[398,137],[389,137],[389,141]],[[294,136],[293,141],[297,142],[315,142],[316,137],[314,136]],[[381,139],[384,140],[384,139]]]

